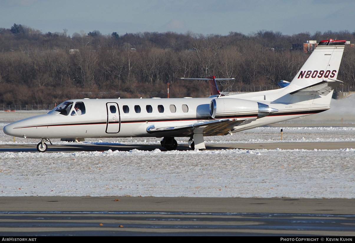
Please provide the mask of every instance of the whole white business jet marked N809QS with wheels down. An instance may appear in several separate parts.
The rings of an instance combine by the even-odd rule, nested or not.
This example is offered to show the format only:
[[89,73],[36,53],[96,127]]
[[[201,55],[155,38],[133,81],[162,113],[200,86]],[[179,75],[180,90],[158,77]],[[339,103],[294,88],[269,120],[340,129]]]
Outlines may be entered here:
[[342,83],[337,75],[344,47],[345,40],[321,41],[281,89],[221,96],[216,86],[209,98],[68,100],[48,114],[6,125],[4,133],[41,139],[40,152],[52,138],[163,137],[162,146],[174,150],[174,137],[187,137],[192,149],[204,149],[204,136],[328,110],[333,89]]

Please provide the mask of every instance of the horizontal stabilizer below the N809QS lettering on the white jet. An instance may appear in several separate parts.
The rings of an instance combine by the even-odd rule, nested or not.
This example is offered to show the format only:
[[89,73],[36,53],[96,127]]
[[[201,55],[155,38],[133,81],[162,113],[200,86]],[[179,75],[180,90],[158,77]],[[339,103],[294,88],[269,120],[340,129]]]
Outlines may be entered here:
[[296,94],[296,95],[327,95],[332,90],[337,88],[340,84],[343,82],[337,79],[334,79],[334,81],[326,81],[323,80],[322,82],[312,84],[308,87],[296,90],[294,92],[291,92],[290,94]]

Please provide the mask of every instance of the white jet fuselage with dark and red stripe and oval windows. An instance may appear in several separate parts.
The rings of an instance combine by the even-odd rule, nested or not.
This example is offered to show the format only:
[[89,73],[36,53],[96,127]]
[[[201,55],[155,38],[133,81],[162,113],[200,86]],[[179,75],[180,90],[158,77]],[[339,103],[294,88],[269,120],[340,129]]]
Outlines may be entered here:
[[[277,92],[277,90],[275,90]],[[254,93],[255,94],[255,93]],[[212,99],[228,103],[226,108],[212,118]],[[149,133],[147,128],[170,127],[218,121],[219,119],[242,119],[232,132],[264,126],[329,109],[329,106],[272,104],[278,112],[258,118],[258,102],[235,98],[180,98],[180,99],[80,99],[72,103],[67,114],[52,110],[48,114],[29,117],[6,125],[4,132],[10,136],[26,138],[109,138],[109,137],[190,137],[193,132]],[[267,104],[267,101],[260,101]],[[85,113],[75,114],[73,106],[84,105]],[[220,105],[220,104],[217,104]],[[259,114],[260,116],[260,114]],[[227,133],[228,134],[228,133]],[[222,134],[220,134],[222,135]],[[213,136],[205,133],[204,136]]]

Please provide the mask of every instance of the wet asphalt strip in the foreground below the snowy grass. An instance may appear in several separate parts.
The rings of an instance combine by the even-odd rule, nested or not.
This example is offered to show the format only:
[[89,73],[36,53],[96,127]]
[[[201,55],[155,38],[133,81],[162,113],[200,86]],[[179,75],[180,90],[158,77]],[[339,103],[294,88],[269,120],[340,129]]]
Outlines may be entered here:
[[355,199],[0,197],[0,205],[0,236],[355,234]]

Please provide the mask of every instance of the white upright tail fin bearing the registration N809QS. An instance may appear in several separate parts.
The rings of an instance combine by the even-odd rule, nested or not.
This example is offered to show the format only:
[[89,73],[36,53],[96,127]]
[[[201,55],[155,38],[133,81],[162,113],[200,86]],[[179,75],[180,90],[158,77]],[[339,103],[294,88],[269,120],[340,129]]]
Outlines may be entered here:
[[[322,40],[288,85],[292,93],[337,80],[345,40]],[[331,81],[328,81],[331,80]],[[321,85],[322,86],[322,85]],[[328,85],[334,88],[334,85]]]

